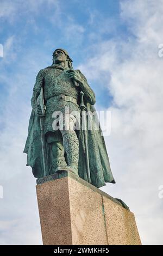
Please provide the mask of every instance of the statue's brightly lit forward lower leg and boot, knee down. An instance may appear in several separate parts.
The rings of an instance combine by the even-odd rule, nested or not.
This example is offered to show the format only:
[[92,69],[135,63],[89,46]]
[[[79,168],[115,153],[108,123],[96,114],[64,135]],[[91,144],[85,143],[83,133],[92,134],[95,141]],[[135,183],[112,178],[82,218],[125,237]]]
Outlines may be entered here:
[[79,141],[76,132],[73,130],[63,130],[61,133],[68,161],[68,166],[65,170],[70,170],[70,172],[78,175]]

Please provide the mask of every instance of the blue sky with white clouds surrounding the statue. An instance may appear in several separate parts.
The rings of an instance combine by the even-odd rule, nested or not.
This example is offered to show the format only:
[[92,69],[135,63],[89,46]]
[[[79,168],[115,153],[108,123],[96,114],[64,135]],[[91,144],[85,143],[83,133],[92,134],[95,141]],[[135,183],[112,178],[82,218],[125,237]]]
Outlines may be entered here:
[[103,190],[129,205],[144,244],[162,244],[162,3],[1,0],[1,244],[41,243],[35,179],[22,152],[36,74],[58,47],[86,76],[96,108],[111,112],[105,142],[117,183]]

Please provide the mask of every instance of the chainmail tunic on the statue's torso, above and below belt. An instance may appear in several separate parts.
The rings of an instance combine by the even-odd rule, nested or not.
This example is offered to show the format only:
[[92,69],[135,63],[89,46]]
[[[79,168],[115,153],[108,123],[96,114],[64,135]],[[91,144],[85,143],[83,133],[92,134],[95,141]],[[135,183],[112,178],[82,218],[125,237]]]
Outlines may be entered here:
[[59,101],[54,96],[65,94],[77,100],[79,87],[74,86],[68,74],[60,69],[46,69],[44,81],[44,95],[46,100],[44,132],[47,133],[51,131],[54,132],[52,127],[53,121],[55,120],[55,118],[52,118],[54,111],[65,113],[65,107],[69,107],[69,113],[72,111],[80,111],[77,104],[69,101]]

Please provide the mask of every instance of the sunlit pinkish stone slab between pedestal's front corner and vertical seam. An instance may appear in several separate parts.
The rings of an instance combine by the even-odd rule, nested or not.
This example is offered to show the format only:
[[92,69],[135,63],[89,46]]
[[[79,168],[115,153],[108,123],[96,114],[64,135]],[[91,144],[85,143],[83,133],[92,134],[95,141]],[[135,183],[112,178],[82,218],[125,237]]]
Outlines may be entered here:
[[108,245],[101,194],[68,179],[73,245]]

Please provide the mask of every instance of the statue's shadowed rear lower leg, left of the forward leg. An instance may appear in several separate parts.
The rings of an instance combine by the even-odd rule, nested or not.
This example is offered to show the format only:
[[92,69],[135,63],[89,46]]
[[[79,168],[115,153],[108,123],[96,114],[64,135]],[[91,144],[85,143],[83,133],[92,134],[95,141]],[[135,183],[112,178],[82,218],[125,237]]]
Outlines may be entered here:
[[52,161],[52,174],[56,172],[58,167],[66,167],[67,163],[65,161],[65,150],[62,142],[53,142],[51,150],[51,161]]

